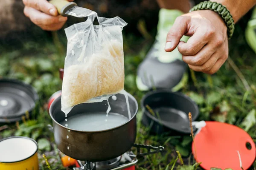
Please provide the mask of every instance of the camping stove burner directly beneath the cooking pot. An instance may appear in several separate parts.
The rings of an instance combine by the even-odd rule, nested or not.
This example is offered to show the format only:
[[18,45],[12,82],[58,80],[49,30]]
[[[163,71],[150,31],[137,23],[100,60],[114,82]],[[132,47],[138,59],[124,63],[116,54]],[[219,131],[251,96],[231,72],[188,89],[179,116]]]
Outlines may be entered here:
[[115,159],[101,162],[77,161],[73,170],[135,170],[138,159],[132,152],[126,152]]

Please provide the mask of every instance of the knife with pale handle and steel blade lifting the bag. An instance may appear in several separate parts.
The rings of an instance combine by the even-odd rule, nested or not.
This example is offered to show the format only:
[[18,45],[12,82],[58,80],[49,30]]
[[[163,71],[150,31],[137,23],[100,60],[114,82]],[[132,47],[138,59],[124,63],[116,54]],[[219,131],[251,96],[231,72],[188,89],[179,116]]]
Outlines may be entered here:
[[91,11],[90,9],[87,8],[82,8],[77,6],[76,3],[74,2],[69,2],[67,0],[49,0],[49,3],[54,5],[58,13],[61,14],[64,17],[67,16],[73,16],[73,17],[87,17],[93,14],[96,14],[95,11]]

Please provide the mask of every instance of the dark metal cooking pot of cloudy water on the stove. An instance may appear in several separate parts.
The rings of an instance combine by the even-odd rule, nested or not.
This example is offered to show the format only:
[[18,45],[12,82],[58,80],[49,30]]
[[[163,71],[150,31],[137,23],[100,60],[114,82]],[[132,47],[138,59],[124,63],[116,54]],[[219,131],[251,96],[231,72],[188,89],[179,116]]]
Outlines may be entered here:
[[[116,100],[109,98],[111,112],[128,117],[125,96],[116,94],[116,97]],[[138,103],[131,94],[128,94],[128,100],[131,111],[131,119],[128,122],[112,129],[88,132],[60,124],[66,117],[61,111],[61,96],[56,98],[49,113],[53,120],[54,139],[58,149],[73,159],[92,162],[110,160],[127,152],[136,140],[138,111]],[[76,114],[107,111],[107,108],[107,101],[79,104],[67,114],[67,119]]]

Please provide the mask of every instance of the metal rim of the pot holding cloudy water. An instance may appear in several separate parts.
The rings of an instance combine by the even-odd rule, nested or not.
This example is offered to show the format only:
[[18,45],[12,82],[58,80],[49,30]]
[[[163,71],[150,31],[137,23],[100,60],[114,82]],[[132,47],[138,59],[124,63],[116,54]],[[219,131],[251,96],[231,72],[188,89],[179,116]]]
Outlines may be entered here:
[[[119,93],[118,93],[118,94],[119,94]],[[123,95],[124,95],[124,94],[123,94]],[[132,119],[134,119],[134,117],[137,116],[138,108],[139,108],[138,102],[137,102],[137,100],[134,98],[134,96],[132,96],[131,94],[127,93],[128,98],[131,98],[132,100],[134,100],[134,101],[135,101],[135,105],[136,105],[136,110],[135,110],[134,115],[133,115],[133,116],[131,117],[131,119],[129,119],[127,122],[125,122],[125,123],[123,123],[123,124],[121,124],[121,125],[119,125],[119,126],[112,127],[112,128],[110,128],[110,129],[106,129],[106,130],[98,130],[98,131],[75,130],[75,129],[71,129],[71,128],[69,128],[69,127],[66,127],[66,126],[61,125],[61,124],[60,124],[59,122],[57,122],[57,121],[53,118],[53,116],[52,116],[52,107],[53,107],[53,105],[61,98],[61,96],[62,96],[62,94],[61,94],[60,96],[58,96],[56,99],[54,99],[54,101],[53,101],[52,104],[50,105],[49,114],[50,114],[50,116],[51,116],[51,119],[52,119],[56,124],[58,124],[58,125],[61,126],[61,127],[64,127],[65,129],[72,130],[72,131],[76,131],[76,132],[82,132],[82,133],[107,132],[107,131],[111,131],[111,130],[117,129],[117,128],[119,128],[119,127],[122,127],[122,126],[128,124]],[[129,100],[128,100],[128,101],[129,101]],[[64,114],[65,114],[65,113],[64,113]]]

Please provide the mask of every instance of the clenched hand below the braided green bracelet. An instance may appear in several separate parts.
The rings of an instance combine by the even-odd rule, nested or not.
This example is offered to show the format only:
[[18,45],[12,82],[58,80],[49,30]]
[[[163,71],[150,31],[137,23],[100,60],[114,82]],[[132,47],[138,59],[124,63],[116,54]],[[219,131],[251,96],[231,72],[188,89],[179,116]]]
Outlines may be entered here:
[[[180,41],[189,36],[185,43]],[[228,58],[227,26],[211,10],[192,11],[177,17],[166,37],[165,51],[177,46],[182,59],[194,71],[214,74]]]

